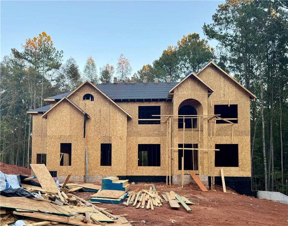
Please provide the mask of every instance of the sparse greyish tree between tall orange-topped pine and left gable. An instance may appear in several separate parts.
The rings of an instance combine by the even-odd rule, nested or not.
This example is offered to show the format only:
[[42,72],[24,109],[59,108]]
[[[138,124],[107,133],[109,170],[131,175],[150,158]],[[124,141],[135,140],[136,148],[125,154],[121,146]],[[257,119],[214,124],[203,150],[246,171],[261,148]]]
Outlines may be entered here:
[[63,92],[76,89],[82,83],[78,64],[72,57],[61,66],[57,74],[55,86]]

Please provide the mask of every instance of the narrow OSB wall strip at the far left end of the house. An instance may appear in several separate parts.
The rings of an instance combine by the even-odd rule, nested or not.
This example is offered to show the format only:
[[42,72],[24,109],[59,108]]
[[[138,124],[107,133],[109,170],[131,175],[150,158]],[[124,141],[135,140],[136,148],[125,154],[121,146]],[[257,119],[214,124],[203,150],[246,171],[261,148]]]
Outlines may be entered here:
[[47,121],[41,114],[33,114],[32,118],[32,164],[36,164],[37,154],[47,153]]

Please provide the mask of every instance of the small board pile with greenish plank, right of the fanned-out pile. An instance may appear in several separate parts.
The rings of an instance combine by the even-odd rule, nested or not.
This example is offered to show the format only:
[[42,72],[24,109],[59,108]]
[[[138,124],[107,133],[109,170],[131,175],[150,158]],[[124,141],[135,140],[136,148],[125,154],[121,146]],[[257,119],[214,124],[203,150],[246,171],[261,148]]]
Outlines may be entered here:
[[194,203],[188,200],[185,196],[180,196],[173,191],[166,192],[162,194],[162,197],[166,202],[170,204],[171,208],[180,208],[179,203],[185,208],[187,211],[191,211],[190,207],[187,205],[193,205]]

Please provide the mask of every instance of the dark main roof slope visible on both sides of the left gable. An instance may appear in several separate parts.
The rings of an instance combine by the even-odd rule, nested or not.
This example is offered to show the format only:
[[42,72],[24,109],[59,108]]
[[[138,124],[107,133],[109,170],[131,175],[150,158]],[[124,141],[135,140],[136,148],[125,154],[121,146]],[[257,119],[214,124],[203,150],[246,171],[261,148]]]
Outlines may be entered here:
[[[168,92],[178,82],[148,82],[146,84],[139,82],[134,84],[125,83],[106,83],[98,84],[97,87],[105,93],[110,99],[166,99]],[[45,99],[62,99],[67,97],[71,92],[59,94]]]

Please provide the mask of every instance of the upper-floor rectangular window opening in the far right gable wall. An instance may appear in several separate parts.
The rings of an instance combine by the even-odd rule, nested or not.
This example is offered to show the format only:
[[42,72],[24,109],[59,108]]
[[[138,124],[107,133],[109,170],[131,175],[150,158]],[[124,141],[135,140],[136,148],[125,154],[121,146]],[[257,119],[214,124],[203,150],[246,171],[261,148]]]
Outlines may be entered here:
[[[220,114],[220,117],[230,122],[238,123],[238,105],[237,104],[219,104],[214,105],[214,114]],[[224,120],[217,119],[216,124],[225,124]]]

